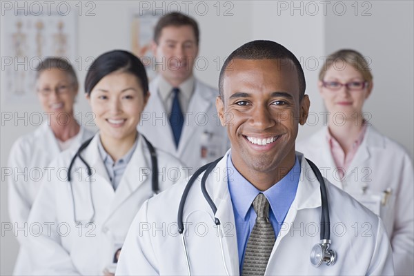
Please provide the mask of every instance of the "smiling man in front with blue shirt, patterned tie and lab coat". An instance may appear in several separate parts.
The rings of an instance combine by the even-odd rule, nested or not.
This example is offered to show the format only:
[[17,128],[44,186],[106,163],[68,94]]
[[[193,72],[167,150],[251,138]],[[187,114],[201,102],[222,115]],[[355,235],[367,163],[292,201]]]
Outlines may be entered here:
[[[310,106],[296,57],[273,41],[246,43],[228,57],[219,83],[216,107],[231,149],[205,189],[201,177],[189,188],[178,220],[185,182],[143,204],[117,275],[393,275],[381,219],[328,181],[336,262],[311,263],[322,184],[295,152]],[[177,231],[181,222],[184,235]]]

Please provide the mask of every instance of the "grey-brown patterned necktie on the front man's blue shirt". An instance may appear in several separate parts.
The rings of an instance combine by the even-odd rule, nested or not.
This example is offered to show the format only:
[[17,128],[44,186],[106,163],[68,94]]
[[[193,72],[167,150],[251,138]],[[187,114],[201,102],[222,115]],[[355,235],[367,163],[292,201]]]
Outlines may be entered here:
[[269,221],[269,201],[262,193],[253,200],[253,209],[257,218],[244,253],[243,276],[264,275],[275,245],[275,231]]

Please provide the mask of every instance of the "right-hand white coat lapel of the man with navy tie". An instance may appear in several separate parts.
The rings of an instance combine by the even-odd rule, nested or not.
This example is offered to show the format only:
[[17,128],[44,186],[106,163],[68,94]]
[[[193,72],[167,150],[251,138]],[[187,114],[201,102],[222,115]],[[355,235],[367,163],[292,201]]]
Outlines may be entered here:
[[[211,106],[211,101],[208,97],[212,95],[205,95],[204,92],[208,92],[206,89],[203,89],[203,84],[199,81],[195,81],[195,90],[193,97],[190,99],[188,104],[188,112],[192,112],[187,116],[184,116],[184,127],[181,132],[181,137],[178,144],[178,154],[182,155],[186,147],[188,146],[190,139],[194,139],[193,135],[197,128],[200,128],[204,124],[204,119],[211,120],[213,118],[207,117],[207,111]],[[210,93],[209,93],[210,94]],[[199,121],[197,121],[199,120]],[[201,150],[201,149],[200,149]],[[197,152],[195,152],[197,154]]]

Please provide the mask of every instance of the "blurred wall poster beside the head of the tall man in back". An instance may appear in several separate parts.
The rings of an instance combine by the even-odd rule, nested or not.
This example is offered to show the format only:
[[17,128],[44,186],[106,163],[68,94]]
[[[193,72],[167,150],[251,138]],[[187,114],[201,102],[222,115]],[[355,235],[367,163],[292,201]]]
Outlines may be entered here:
[[154,35],[154,28],[161,14],[152,12],[133,12],[130,20],[131,51],[144,63],[148,79],[154,79],[155,58],[151,51],[151,41]]

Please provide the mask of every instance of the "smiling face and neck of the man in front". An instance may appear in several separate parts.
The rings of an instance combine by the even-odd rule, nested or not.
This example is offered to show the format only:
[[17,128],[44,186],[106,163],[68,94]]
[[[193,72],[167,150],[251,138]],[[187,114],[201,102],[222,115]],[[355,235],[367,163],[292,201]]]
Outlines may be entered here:
[[216,107],[227,128],[233,164],[252,184],[257,173],[277,178],[277,170],[293,167],[298,124],[306,121],[309,101],[305,96],[299,103],[291,61],[234,59]]

